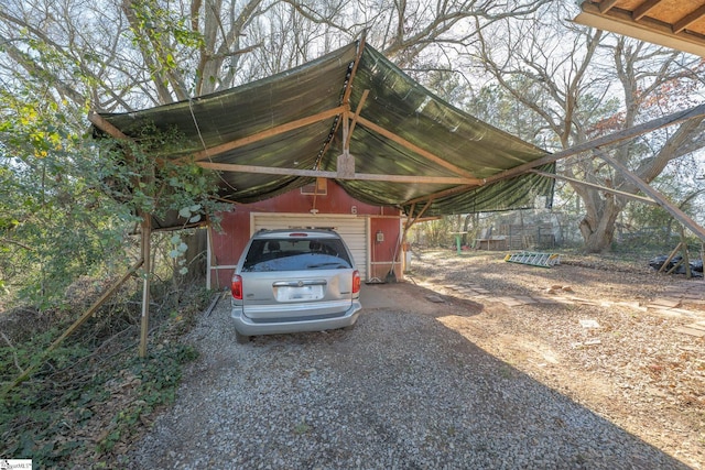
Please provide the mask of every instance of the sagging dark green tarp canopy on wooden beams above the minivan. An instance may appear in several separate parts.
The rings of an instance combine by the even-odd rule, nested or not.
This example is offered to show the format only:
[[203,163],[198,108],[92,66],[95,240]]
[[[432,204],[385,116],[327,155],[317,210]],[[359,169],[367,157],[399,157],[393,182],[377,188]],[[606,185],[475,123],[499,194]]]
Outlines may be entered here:
[[[355,198],[434,217],[550,207],[553,178],[511,168],[546,152],[443,101],[364,42],[186,101],[99,113],[128,136],[176,131],[177,151],[220,172],[224,199],[252,203],[335,179]],[[95,135],[104,134],[96,125]],[[554,172],[554,163],[536,166]],[[517,173],[517,172],[513,172]]]

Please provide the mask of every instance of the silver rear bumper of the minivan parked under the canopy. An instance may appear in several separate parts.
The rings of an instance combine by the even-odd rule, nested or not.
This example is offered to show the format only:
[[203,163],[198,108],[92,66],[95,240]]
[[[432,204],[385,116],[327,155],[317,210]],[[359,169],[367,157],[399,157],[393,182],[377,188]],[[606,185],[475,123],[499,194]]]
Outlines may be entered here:
[[360,314],[362,305],[355,298],[350,308],[337,315],[326,315],[325,317],[296,318],[286,320],[278,318],[265,321],[256,321],[242,313],[242,306],[234,305],[230,316],[235,320],[235,329],[243,336],[257,335],[280,335],[302,331],[323,331],[327,329],[345,328],[355,325]]

